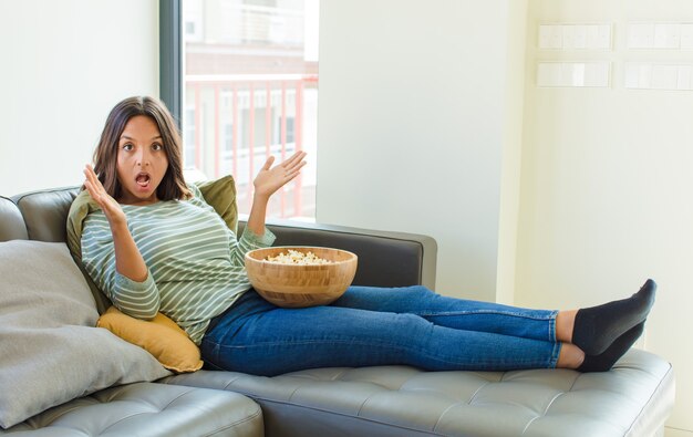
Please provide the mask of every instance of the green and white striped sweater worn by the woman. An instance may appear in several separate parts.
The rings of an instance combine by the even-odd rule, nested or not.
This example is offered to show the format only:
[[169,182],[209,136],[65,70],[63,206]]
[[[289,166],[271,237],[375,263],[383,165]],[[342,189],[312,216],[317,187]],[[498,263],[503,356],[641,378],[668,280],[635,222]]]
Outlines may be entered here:
[[101,209],[84,221],[82,262],[121,311],[145,320],[159,311],[199,344],[209,321],[250,289],[246,252],[271,246],[275,236],[268,229],[256,236],[246,228],[238,240],[199,189],[188,188],[190,200],[122,206],[148,268],[143,282],[116,271],[113,237]]

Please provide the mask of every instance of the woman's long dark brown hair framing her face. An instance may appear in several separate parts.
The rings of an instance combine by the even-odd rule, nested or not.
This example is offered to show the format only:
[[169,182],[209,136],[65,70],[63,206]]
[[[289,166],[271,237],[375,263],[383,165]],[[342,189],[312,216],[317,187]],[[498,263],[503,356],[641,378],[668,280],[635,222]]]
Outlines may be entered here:
[[106,118],[99,145],[94,150],[94,171],[104,189],[116,200],[123,195],[116,168],[118,142],[127,122],[137,115],[145,115],[156,123],[168,158],[168,168],[156,188],[156,197],[159,200],[189,198],[192,194],[183,177],[180,133],[166,105],[157,98],[147,96],[125,98],[111,110]]

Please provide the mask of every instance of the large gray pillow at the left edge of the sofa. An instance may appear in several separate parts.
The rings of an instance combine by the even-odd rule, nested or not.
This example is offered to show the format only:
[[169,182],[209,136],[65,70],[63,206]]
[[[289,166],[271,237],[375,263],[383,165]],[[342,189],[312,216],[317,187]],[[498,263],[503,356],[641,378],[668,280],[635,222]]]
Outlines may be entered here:
[[170,375],[94,327],[94,298],[65,243],[0,242],[0,426],[112,385]]

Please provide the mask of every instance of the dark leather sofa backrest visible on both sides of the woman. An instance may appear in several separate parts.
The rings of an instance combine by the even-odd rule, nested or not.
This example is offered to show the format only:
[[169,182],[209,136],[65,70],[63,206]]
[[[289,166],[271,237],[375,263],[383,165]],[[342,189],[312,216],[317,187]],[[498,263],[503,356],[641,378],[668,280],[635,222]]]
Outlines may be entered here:
[[[68,212],[77,194],[77,187],[68,187],[0,197],[0,241],[66,241]],[[244,226],[239,220],[239,233]],[[288,220],[268,220],[267,227],[277,236],[275,246],[324,246],[358,253],[354,285],[435,289],[437,244],[431,237]]]

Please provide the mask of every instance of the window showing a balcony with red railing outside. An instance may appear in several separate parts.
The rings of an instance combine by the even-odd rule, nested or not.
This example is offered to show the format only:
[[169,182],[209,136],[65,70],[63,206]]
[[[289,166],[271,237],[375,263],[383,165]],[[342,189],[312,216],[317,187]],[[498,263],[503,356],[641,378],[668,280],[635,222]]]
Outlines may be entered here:
[[268,216],[313,219],[319,0],[179,4],[186,173],[232,174],[239,212],[248,214],[267,157],[306,150],[309,165],[272,197]]

